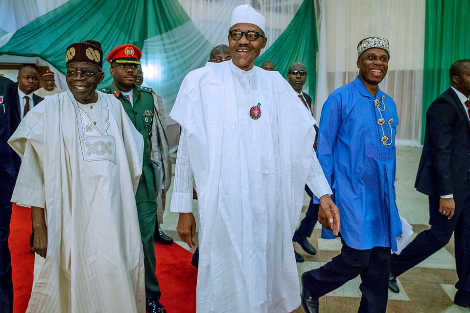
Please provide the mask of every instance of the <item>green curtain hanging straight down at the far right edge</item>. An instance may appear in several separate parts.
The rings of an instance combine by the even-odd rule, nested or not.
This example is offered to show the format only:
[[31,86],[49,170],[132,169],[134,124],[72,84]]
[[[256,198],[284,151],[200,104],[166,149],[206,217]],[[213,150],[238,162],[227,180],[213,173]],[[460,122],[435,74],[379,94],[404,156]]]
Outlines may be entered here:
[[469,0],[426,0],[421,143],[427,108],[450,86],[450,66],[470,59],[469,12]]

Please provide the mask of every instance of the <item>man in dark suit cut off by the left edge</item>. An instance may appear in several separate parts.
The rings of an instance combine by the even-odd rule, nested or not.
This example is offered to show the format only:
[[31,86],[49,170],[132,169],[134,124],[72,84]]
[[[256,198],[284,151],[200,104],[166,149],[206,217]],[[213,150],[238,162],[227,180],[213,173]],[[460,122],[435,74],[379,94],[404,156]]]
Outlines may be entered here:
[[10,234],[11,195],[20,169],[20,158],[7,144],[20,124],[18,92],[14,82],[0,76],[0,311],[13,312]]

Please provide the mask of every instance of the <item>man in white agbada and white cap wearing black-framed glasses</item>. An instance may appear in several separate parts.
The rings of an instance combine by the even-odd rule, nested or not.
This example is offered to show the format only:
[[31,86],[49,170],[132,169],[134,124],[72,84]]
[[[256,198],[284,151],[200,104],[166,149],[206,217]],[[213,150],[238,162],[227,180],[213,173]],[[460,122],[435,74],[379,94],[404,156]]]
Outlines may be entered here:
[[198,313],[286,313],[300,303],[292,235],[305,182],[322,200],[320,222],[339,213],[313,150],[315,120],[278,72],[254,67],[265,19],[234,9],[232,61],[190,72],[170,116],[182,126],[171,211],[194,245],[197,191]]

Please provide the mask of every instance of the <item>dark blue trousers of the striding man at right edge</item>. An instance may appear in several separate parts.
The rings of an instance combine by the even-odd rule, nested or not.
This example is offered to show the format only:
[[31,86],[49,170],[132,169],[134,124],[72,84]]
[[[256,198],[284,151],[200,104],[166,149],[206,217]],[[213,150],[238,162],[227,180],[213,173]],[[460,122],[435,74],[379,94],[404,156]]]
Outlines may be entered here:
[[[455,199],[454,216],[448,220],[439,213],[439,198],[429,197],[429,224],[399,255],[392,254],[391,272],[399,276],[446,246],[452,232],[455,241],[455,265],[459,281],[457,292],[470,294],[470,195]],[[469,297],[469,296],[467,296]],[[469,299],[466,299],[470,302]]]

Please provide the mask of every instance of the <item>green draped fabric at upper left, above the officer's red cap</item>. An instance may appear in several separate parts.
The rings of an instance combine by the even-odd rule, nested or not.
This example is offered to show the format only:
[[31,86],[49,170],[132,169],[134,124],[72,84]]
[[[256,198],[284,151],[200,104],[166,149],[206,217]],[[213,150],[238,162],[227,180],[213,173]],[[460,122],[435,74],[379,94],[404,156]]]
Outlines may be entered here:
[[[70,0],[19,29],[0,54],[40,56],[65,73],[65,49],[82,40],[99,41],[106,59],[123,43],[139,48],[143,42],[189,22],[177,0]],[[109,64],[103,62],[109,73]],[[101,86],[111,83],[107,74]]]

